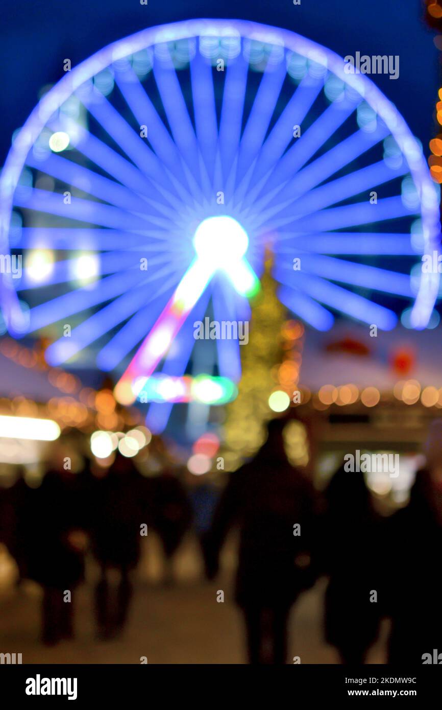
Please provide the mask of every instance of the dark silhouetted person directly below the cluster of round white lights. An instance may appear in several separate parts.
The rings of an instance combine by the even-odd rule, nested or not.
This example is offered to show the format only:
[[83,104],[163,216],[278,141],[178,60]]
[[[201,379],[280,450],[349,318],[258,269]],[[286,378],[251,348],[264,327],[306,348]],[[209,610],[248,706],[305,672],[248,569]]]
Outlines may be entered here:
[[[131,570],[140,558],[141,526],[147,523],[142,476],[131,459],[117,454],[94,488],[92,547],[100,567],[95,614],[99,638],[106,640],[126,624],[132,598]],[[115,598],[108,579],[110,569],[119,573]]]

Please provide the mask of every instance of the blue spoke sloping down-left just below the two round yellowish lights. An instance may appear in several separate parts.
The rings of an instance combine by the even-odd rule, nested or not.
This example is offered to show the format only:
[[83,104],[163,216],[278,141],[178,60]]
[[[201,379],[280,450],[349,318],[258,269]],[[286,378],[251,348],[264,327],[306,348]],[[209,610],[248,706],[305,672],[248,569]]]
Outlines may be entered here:
[[56,323],[62,318],[81,313],[88,308],[92,308],[100,303],[105,303],[121,293],[125,293],[129,288],[133,288],[135,283],[145,278],[142,271],[134,271],[131,283],[128,283],[127,273],[116,273],[100,281],[100,288],[90,291],[84,288],[76,288],[69,293],[52,298],[45,303],[31,308],[28,332]]

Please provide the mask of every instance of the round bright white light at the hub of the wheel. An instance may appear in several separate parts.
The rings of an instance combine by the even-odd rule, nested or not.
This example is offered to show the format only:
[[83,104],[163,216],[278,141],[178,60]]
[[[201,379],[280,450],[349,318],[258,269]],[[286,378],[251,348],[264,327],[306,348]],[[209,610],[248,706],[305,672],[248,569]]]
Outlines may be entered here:
[[208,217],[197,227],[194,247],[199,258],[228,268],[243,258],[248,248],[247,232],[233,217]]

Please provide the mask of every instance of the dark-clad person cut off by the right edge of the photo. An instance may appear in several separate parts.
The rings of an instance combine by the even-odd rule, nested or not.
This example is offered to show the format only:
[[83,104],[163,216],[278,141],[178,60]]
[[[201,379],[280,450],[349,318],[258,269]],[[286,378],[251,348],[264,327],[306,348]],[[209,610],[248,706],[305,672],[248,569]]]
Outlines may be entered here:
[[442,420],[431,425],[426,468],[416,474],[409,505],[387,520],[384,544],[387,613],[392,618],[388,662],[440,663]]

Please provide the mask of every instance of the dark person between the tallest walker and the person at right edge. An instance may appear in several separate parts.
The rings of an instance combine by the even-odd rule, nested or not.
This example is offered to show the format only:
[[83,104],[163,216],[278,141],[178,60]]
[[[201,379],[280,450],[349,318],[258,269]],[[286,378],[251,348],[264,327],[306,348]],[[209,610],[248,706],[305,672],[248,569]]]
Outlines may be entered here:
[[326,641],[341,662],[360,665],[377,638],[380,623],[380,521],[362,473],[336,471],[326,491],[321,520]]

